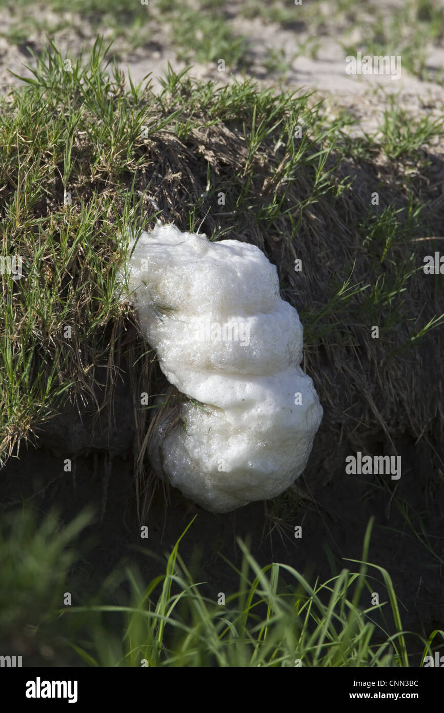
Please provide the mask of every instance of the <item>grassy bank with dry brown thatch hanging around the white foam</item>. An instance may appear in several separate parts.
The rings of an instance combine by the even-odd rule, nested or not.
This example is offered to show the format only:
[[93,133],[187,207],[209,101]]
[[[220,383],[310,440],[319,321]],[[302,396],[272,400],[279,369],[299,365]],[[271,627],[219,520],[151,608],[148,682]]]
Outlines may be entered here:
[[2,255],[23,260],[21,279],[2,274],[3,461],[66,399],[112,409],[124,376],[142,446],[166,386],[117,274],[128,229],[158,219],[254,242],[278,266],[304,324],[304,368],[331,405],[327,429],[357,420],[362,443],[381,424],[391,438],[439,436],[442,385],[424,365],[440,354],[440,287],[421,270],[443,205],[430,131],[406,134],[396,161],[388,129],[356,155],[343,120],[327,120],[309,93],[220,88],[171,67],[153,93],[125,86],[107,51],[97,41],[67,63],[50,43],[1,100]]

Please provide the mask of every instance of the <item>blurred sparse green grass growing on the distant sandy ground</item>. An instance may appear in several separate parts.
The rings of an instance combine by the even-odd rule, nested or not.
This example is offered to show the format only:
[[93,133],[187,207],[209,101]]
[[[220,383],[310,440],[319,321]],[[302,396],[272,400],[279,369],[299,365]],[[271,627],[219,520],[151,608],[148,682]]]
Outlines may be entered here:
[[[11,9],[9,0],[0,0],[2,6]],[[61,0],[49,0],[46,6],[56,14],[56,21],[41,16],[37,5],[24,0],[14,3],[11,25],[3,35],[11,43],[26,46],[36,34],[53,37],[57,31],[69,27],[81,33],[86,21],[93,33],[103,31],[106,26],[110,39],[119,41],[121,56],[137,48],[150,51],[150,43],[156,43],[162,32],[177,59],[214,66],[223,58],[229,70],[237,71],[249,71],[254,63],[248,36],[239,32],[231,14],[232,6],[223,2],[200,0],[196,6],[177,0],[150,0],[146,5],[73,0],[69,15],[66,3]],[[373,2],[364,8],[353,0],[335,0],[329,6],[317,1],[295,6],[280,0],[267,4],[248,0],[239,4],[237,11],[247,20],[261,19],[265,35],[270,23],[294,32],[296,56],[310,54],[316,58],[326,32],[339,42],[344,56],[356,54],[358,49],[371,55],[401,55],[403,68],[415,76],[444,81],[442,71],[433,75],[428,70],[426,52],[429,45],[440,46],[443,42],[444,10],[439,2],[408,0],[401,9],[386,10]],[[351,31],[353,34],[358,31],[358,41],[353,39],[351,43]],[[285,75],[291,61],[282,56],[279,47],[264,54],[264,66],[273,73]]]

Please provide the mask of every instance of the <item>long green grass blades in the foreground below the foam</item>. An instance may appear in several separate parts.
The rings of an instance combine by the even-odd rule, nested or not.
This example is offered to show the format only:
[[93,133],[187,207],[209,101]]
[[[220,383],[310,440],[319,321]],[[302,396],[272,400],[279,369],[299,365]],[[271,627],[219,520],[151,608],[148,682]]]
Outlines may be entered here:
[[[221,591],[205,594],[205,583],[193,578],[180,556],[192,522],[148,585],[133,564],[111,573],[98,593],[88,592],[78,579],[81,560],[80,570],[72,565],[78,560],[74,543],[90,520],[81,515],[63,528],[53,515],[37,523],[25,508],[1,525],[0,636],[4,645],[12,637],[26,642],[34,665],[40,657],[93,667],[408,667],[420,665],[444,637],[403,631],[389,573],[364,561],[371,522],[363,561],[349,560],[324,583],[310,583],[284,563],[260,568],[238,538],[242,565],[230,566],[239,589],[226,592],[223,602],[223,582]],[[147,554],[140,548],[139,557]],[[374,591],[381,593],[378,605],[371,604]],[[66,592],[73,595],[71,605],[61,603]]]

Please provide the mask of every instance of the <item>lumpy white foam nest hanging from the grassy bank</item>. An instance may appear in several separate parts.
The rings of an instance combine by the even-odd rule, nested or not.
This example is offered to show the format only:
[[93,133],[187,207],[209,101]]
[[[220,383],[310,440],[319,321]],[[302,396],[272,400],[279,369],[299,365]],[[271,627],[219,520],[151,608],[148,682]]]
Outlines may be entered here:
[[255,245],[158,224],[125,270],[143,337],[187,396],[182,426],[164,421],[151,441],[158,476],[217,513],[285,491],[323,411],[277,268]]

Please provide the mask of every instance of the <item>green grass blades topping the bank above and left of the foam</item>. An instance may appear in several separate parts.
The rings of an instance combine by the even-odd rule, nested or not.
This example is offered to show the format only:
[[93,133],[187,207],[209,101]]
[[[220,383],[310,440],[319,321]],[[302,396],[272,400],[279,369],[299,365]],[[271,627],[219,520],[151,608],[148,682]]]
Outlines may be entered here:
[[[206,220],[212,240],[231,230],[272,235],[272,246],[284,241],[289,264],[282,268],[291,271],[291,241],[304,245],[301,235],[314,213],[322,225],[337,220],[336,210],[353,210],[354,229],[362,235],[371,263],[360,275],[356,260],[346,260],[332,276],[322,303],[308,299],[301,306],[306,349],[310,352],[329,336],[352,344],[355,337],[346,334],[349,325],[364,333],[371,312],[370,324],[378,324],[384,309],[392,344],[388,328],[396,314],[418,317],[413,304],[403,308],[419,269],[418,246],[411,240],[425,225],[427,205],[418,190],[427,162],[418,157],[440,122],[423,120],[409,128],[406,117],[388,114],[382,138],[366,138],[365,155],[382,151],[408,163],[408,176],[399,184],[405,205],[395,207],[393,202],[375,211],[358,202],[352,208],[354,179],[340,168],[341,160],[353,155],[352,142],[344,139],[344,120],[326,120],[321,104],[314,105],[308,93],[296,97],[261,91],[251,80],[215,88],[170,68],[162,91],[154,95],[143,85],[125,88],[118,70],[107,68],[106,51],[98,41],[87,61],[73,59],[72,71],[66,71],[66,58],[50,44],[36,57],[33,78],[1,100],[2,255],[23,259],[20,280],[2,275],[4,458],[64,398],[95,398],[100,364],[108,364],[111,384],[120,359],[123,318],[130,316],[119,302],[117,277],[127,231],[135,224],[140,229],[153,225],[159,215],[189,230]],[[297,126],[303,127],[301,138],[296,138]],[[210,132],[217,147],[208,148],[207,158],[199,153],[202,132]],[[190,147],[185,152],[184,145]],[[159,196],[154,200],[154,195],[160,188],[155,187],[151,198],[153,178],[148,175],[159,170],[155,165],[162,167],[165,150],[175,157],[170,159],[175,162],[169,169],[173,175],[188,175],[190,151],[198,168],[192,169],[197,171],[192,183],[172,183],[171,190],[160,183],[163,204],[158,207]],[[226,150],[229,168],[222,158]],[[416,173],[412,162],[418,163]],[[221,190],[227,205],[215,210]],[[292,299],[284,277],[282,292]],[[442,319],[430,314],[396,349],[415,343],[418,335],[428,337]]]

